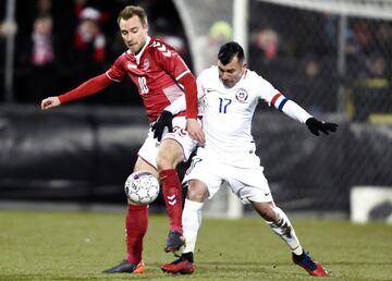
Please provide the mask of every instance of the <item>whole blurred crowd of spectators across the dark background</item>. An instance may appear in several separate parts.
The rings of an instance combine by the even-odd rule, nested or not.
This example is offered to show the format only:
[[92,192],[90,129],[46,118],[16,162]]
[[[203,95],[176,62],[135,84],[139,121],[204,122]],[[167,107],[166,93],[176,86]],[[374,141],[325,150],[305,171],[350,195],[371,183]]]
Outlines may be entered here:
[[[5,1],[0,3],[3,17]],[[192,68],[183,24],[171,0],[17,1],[14,28],[16,101],[37,103],[44,97],[62,94],[106,71],[125,50],[117,25],[118,12],[125,4],[144,7],[150,34],[166,39]],[[248,27],[249,68],[306,109],[335,112],[342,86],[346,89],[346,99],[356,102],[357,108],[363,107],[358,101],[370,90],[379,93],[379,110],[392,109],[391,22],[348,19],[342,73],[338,70],[338,15],[249,1]],[[2,26],[0,30],[2,66],[4,34],[10,28]],[[232,39],[232,34],[230,23],[217,19],[208,36],[219,45]],[[211,53],[211,63],[215,56]],[[1,74],[3,71],[1,68]],[[135,93],[131,82],[124,82],[82,102],[140,105]],[[0,102],[3,100],[0,94]],[[345,106],[350,106],[347,100]],[[368,102],[365,99],[363,103]]]

